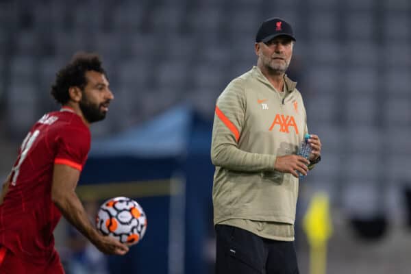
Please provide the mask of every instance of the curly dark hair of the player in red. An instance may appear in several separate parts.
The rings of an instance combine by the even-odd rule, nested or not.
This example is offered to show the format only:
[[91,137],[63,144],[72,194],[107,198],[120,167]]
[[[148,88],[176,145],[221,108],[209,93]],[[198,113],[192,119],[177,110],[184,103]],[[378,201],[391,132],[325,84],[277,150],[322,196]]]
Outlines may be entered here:
[[75,53],[71,62],[56,74],[55,82],[51,86],[51,95],[55,101],[64,105],[70,99],[69,88],[77,86],[83,89],[87,84],[87,71],[97,71],[107,77],[101,66],[99,55],[84,52]]

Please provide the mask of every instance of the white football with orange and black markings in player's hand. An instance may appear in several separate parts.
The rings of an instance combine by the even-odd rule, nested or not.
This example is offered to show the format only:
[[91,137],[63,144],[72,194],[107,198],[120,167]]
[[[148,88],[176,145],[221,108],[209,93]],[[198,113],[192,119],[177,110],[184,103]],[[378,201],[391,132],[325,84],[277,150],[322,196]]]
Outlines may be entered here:
[[115,197],[100,206],[96,227],[103,235],[112,236],[126,245],[135,245],[146,232],[147,218],[133,199]]

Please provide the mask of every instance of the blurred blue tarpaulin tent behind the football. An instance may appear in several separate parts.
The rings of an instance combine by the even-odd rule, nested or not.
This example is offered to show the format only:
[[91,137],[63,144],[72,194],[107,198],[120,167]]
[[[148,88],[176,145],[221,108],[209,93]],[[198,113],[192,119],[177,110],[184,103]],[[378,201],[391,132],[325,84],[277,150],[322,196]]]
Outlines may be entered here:
[[[184,247],[184,260],[175,269],[179,273],[208,273],[204,258],[206,240],[214,235],[212,228],[212,176],[210,162],[212,121],[202,119],[186,105],[178,106],[137,127],[114,136],[92,141],[81,184],[116,182],[152,182],[176,176],[184,177],[184,237],[177,245]],[[147,184],[145,185],[147,186]],[[157,189],[157,188],[155,188]],[[130,196],[125,190],[123,196]],[[134,197],[143,206],[148,218],[145,238],[126,257],[110,257],[110,273],[171,274],[169,232],[170,195]],[[163,193],[163,194],[162,194]],[[137,195],[138,196],[138,195]],[[185,220],[185,222],[184,222]],[[173,229],[173,227],[171,227]],[[180,229],[180,228],[176,228]],[[174,241],[174,245],[176,242]],[[177,262],[179,263],[179,262]],[[175,271],[174,271],[175,272]]]

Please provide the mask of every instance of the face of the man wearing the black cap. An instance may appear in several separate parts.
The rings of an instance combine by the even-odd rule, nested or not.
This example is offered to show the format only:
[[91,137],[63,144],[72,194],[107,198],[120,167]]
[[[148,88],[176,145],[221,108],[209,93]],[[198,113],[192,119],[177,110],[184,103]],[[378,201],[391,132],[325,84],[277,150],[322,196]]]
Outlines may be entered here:
[[285,73],[290,65],[294,43],[287,36],[278,36],[269,42],[259,42],[256,47],[258,58],[268,71]]

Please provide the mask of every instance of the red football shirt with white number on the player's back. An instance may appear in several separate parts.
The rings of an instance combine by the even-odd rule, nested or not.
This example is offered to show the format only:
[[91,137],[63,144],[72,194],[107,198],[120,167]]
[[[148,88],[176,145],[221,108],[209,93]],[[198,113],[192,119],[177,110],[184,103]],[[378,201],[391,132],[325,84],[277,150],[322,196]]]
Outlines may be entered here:
[[54,164],[79,171],[90,150],[90,130],[70,108],[37,121],[21,145],[7,195],[0,206],[0,246],[23,260],[44,264],[55,252],[60,210],[51,201]]

